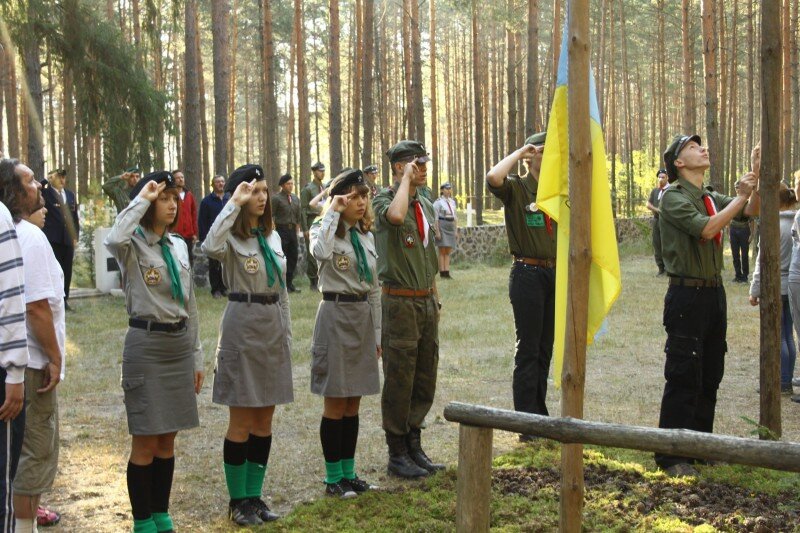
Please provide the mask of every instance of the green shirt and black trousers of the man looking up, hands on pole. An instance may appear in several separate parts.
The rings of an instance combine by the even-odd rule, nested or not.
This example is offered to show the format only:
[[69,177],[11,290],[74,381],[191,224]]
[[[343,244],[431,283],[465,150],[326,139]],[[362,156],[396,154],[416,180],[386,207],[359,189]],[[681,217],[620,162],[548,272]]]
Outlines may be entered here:
[[[707,206],[707,197],[713,206]],[[661,197],[661,246],[670,283],[664,299],[664,395],[659,427],[712,432],[717,389],[727,343],[727,303],[720,277],[722,236],[704,239],[714,211],[734,198],[678,178]],[[656,454],[664,469],[692,463],[687,457]]]

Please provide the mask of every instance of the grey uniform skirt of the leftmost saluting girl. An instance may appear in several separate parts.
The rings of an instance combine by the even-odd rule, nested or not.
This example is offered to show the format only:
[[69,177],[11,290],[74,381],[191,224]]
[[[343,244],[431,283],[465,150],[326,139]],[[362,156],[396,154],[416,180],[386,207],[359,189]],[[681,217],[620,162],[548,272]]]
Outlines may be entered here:
[[197,427],[194,344],[177,333],[128,328],[122,390],[131,435],[162,435]]

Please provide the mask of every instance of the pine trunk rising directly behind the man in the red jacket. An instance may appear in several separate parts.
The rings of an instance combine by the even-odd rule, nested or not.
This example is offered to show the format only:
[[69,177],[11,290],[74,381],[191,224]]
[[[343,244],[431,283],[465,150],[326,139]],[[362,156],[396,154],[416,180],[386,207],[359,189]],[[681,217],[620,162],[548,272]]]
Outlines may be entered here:
[[193,191],[201,190],[203,181],[203,162],[200,145],[200,89],[197,72],[197,0],[186,0],[184,28],[184,77],[185,94],[183,98],[183,174],[186,187]]

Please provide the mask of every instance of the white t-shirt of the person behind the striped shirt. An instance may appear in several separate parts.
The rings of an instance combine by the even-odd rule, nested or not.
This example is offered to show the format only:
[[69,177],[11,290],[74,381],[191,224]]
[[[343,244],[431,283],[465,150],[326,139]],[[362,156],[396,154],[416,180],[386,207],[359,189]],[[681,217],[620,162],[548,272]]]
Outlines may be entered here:
[[[23,272],[25,276],[25,303],[47,300],[53,312],[58,348],[61,350],[61,379],[66,365],[67,325],[64,314],[64,271],[56,261],[53,249],[44,232],[28,222],[17,224],[17,238],[22,248]],[[28,367],[42,369],[50,361],[36,338],[31,334],[28,322]]]

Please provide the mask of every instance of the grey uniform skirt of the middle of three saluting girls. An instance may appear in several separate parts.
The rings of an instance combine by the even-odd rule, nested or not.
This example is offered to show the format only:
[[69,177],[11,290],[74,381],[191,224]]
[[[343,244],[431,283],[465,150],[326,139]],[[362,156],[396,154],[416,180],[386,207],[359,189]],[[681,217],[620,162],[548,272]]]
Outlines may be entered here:
[[228,302],[220,324],[212,401],[268,407],[293,400],[292,355],[280,304]]

